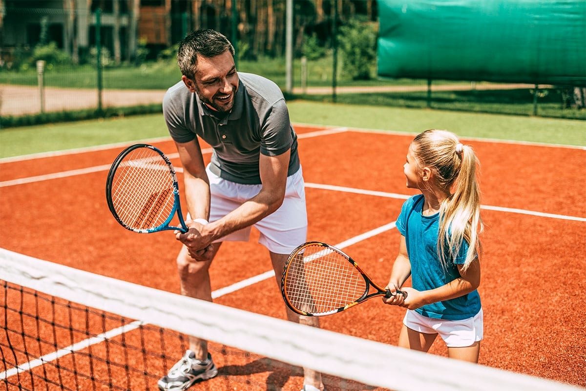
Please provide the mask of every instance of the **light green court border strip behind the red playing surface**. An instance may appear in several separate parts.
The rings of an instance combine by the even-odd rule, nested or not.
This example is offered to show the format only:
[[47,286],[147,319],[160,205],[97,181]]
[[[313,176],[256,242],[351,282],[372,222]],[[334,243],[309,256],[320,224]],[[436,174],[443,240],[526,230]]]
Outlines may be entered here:
[[[462,137],[586,145],[584,121],[295,100],[295,123],[420,132],[441,128]],[[161,114],[0,130],[0,157],[166,137]]]

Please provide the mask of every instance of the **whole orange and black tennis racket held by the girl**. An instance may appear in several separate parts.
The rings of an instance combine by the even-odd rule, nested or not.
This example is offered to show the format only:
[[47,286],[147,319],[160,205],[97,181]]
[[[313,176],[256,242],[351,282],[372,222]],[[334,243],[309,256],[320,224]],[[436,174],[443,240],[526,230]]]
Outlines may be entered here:
[[[372,291],[372,292],[371,292]],[[397,291],[407,297],[407,293]],[[350,256],[322,242],[297,247],[285,263],[281,294],[292,311],[322,317],[375,296],[391,297]]]

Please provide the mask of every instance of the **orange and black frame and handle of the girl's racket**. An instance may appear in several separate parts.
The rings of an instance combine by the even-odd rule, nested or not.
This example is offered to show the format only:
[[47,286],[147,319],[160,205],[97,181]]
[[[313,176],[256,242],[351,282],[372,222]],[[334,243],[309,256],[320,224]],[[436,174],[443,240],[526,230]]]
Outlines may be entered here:
[[[302,310],[299,310],[299,308],[295,308],[295,306],[291,303],[291,301],[289,300],[288,296],[287,296],[287,291],[285,289],[285,285],[286,285],[286,281],[287,281],[287,275],[289,273],[289,264],[291,264],[291,261],[298,255],[299,251],[301,251],[302,249],[304,249],[305,247],[308,246],[322,246],[324,247],[324,249],[330,249],[332,251],[335,251],[337,253],[339,253],[340,255],[342,255],[343,257],[345,257],[345,259],[352,264],[353,267],[356,268],[356,270],[359,271],[359,273],[362,275],[362,277],[364,278],[364,281],[366,282],[366,290],[364,290],[364,293],[362,294],[362,296],[360,296],[359,298],[357,298],[355,301],[350,302],[346,305],[344,305],[343,307],[339,307],[336,308],[335,310],[331,310],[331,311],[325,311],[325,312],[319,312],[319,313],[312,313],[312,312],[305,312]],[[376,292],[370,293],[370,287],[373,287],[374,289],[376,289]],[[398,294],[403,294],[405,297],[407,297],[407,294],[403,291],[399,291],[397,290]],[[393,296],[393,294],[391,293],[390,290],[384,290],[382,287],[380,287],[379,284],[375,283],[370,276],[366,273],[366,271],[362,270],[362,268],[358,265],[358,263],[356,263],[355,260],[352,259],[352,257],[350,257],[348,254],[346,254],[344,251],[338,249],[337,247],[331,246],[328,243],[323,243],[323,242],[306,242],[303,243],[301,245],[299,245],[295,250],[293,250],[291,252],[291,254],[289,255],[289,258],[287,259],[287,261],[285,262],[285,266],[283,268],[283,274],[281,277],[281,295],[285,301],[285,304],[287,304],[287,307],[289,307],[289,309],[291,309],[291,311],[299,314],[299,315],[304,315],[306,317],[323,317],[325,315],[332,315],[332,314],[336,314],[338,312],[341,311],[345,311],[350,307],[354,307],[356,304],[360,304],[361,302],[364,302],[366,300],[368,300],[369,298],[375,297],[375,296],[384,296],[384,297],[391,297]]]

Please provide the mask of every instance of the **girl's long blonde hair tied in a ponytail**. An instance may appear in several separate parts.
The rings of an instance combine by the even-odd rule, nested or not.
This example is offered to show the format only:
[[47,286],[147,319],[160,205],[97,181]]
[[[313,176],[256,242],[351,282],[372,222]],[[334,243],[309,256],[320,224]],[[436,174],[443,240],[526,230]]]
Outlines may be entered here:
[[468,242],[464,270],[481,253],[479,233],[483,224],[480,216],[480,189],[476,178],[476,155],[469,145],[445,130],[426,130],[413,140],[413,152],[420,168],[431,169],[433,186],[449,193],[440,205],[440,233],[437,251],[444,266],[455,259],[462,240]]

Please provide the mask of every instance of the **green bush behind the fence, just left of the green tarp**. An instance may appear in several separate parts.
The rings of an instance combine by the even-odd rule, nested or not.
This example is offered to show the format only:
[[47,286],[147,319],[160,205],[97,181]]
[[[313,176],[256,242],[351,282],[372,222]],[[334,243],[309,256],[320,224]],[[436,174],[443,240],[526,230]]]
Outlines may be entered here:
[[338,37],[342,51],[343,72],[352,80],[370,80],[376,60],[376,28],[372,22],[351,19],[340,27]]

